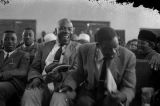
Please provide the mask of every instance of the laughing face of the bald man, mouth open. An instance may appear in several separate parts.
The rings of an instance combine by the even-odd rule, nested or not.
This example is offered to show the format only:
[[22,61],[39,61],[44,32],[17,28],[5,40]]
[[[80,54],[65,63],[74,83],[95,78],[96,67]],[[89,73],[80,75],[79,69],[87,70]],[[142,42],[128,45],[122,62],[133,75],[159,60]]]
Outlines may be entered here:
[[73,34],[73,25],[71,22],[64,22],[59,25],[58,28],[58,39],[62,45],[68,44]]

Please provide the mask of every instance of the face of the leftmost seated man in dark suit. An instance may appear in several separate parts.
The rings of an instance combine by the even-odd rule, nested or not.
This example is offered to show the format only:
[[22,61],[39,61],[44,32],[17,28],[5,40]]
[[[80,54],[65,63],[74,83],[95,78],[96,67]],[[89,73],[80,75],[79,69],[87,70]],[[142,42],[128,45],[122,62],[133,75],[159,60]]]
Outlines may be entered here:
[[17,45],[17,36],[15,33],[5,33],[3,38],[3,46],[6,52],[15,50]]

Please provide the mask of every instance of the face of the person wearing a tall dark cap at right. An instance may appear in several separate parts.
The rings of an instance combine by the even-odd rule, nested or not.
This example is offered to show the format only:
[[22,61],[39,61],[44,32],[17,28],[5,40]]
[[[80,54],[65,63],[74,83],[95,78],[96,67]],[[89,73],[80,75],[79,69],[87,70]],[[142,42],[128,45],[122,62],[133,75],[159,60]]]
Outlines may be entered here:
[[138,53],[145,54],[148,51],[148,49],[151,49],[151,47],[149,46],[149,43],[147,41],[138,40],[137,44]]

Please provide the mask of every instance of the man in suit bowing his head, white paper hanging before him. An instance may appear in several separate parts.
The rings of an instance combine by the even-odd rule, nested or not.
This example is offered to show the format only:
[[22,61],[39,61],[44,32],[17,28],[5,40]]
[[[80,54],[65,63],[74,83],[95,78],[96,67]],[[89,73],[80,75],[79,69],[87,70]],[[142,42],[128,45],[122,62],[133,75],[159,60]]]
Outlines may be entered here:
[[74,106],[128,106],[134,98],[135,55],[119,45],[112,28],[100,28],[95,41],[79,47],[78,67],[65,79],[65,93],[53,95],[53,106],[68,106],[72,100]]

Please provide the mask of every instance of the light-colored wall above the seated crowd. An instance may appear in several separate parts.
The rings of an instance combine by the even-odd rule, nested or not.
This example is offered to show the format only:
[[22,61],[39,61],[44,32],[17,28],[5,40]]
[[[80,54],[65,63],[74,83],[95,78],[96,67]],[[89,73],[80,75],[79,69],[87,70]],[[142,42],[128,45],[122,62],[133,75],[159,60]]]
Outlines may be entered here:
[[8,5],[0,4],[0,19],[36,19],[38,35],[42,30],[52,32],[64,17],[110,21],[113,28],[125,29],[126,41],[137,38],[139,28],[160,28],[157,11],[131,5],[89,0],[10,0]]

